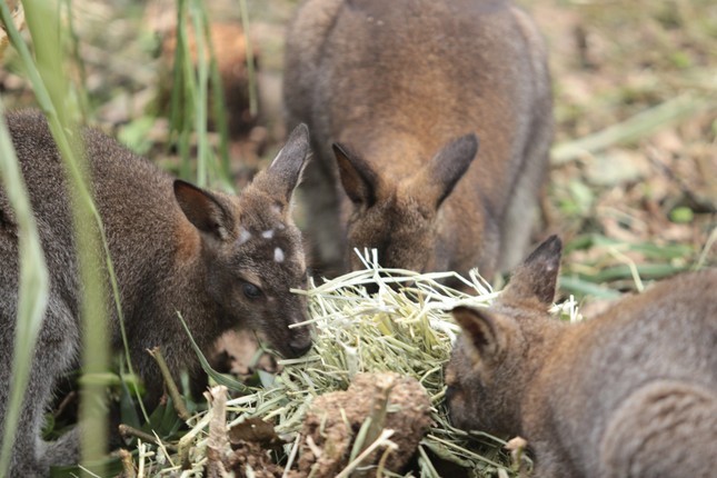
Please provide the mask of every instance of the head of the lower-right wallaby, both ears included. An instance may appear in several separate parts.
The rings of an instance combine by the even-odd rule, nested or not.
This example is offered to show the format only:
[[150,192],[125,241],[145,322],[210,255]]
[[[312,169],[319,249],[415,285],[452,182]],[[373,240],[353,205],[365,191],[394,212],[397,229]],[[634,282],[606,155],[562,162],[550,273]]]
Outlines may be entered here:
[[[491,308],[456,307],[464,335],[446,369],[446,396],[459,428],[519,434],[520,400],[531,369],[530,330],[549,329],[561,242],[540,245],[515,271]],[[557,321],[555,325],[558,325]]]

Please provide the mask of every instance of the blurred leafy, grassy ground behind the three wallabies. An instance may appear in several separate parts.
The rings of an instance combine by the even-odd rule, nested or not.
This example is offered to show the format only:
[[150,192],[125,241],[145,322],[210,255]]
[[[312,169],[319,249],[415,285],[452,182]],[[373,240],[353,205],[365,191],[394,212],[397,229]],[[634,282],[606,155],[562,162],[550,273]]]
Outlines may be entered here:
[[[67,71],[89,123],[189,179],[203,168],[199,153],[220,165],[206,181],[227,189],[241,189],[273,157],[285,137],[285,27],[297,1],[60,3]],[[564,295],[598,301],[717,265],[717,4],[519,3],[550,54],[557,129],[545,228],[535,239],[549,232],[565,239]],[[186,19],[185,43],[178,18]],[[193,36],[199,18],[209,27],[199,44],[211,40],[209,50]],[[217,96],[218,83],[209,81],[207,132],[197,130],[189,107],[201,89],[187,83],[200,77],[189,64],[200,57],[216,58],[225,89]],[[9,109],[33,103],[11,48],[0,93]]]

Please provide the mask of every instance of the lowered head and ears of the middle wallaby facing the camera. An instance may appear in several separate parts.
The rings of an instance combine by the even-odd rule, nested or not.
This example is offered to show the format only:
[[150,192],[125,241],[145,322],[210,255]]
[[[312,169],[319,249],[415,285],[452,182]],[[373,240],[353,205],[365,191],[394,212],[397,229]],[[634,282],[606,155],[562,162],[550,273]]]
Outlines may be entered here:
[[[380,176],[347,146],[333,145],[339,177],[352,211],[347,223],[349,261],[362,268],[353,249],[375,248],[381,266],[415,271],[445,267],[437,258],[440,207],[464,177],[478,151],[469,133],[446,145],[416,171]],[[401,158],[395,160],[400,161]]]

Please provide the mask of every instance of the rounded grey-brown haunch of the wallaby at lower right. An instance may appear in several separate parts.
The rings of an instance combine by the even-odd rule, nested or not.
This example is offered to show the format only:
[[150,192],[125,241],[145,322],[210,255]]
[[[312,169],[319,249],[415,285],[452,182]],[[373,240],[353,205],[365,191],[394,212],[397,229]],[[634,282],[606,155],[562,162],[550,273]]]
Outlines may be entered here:
[[714,477],[717,390],[676,380],[643,387],[610,419],[600,477]]

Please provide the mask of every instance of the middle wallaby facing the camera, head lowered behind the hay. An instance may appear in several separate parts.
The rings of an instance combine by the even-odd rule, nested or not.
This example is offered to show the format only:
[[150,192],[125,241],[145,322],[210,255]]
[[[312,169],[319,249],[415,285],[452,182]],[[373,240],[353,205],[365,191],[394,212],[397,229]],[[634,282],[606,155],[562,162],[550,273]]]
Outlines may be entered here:
[[525,12],[308,0],[285,61],[287,122],[309,126],[317,153],[303,188],[326,273],[362,268],[352,249],[365,247],[386,267],[488,278],[524,257],[552,136],[546,51]]

